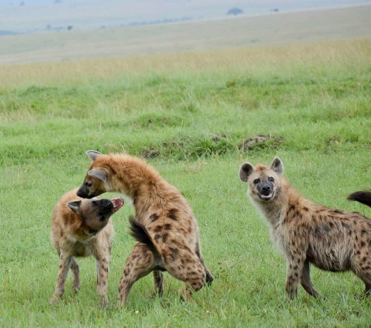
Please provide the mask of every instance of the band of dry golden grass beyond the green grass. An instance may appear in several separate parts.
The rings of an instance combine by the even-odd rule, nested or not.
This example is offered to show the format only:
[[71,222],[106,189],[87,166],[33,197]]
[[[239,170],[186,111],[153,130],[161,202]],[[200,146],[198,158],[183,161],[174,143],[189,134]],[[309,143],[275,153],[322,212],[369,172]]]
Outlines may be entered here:
[[[49,62],[0,66],[0,87],[14,85],[83,82],[89,79],[115,79],[122,75],[143,75],[148,72],[282,71],[286,68],[326,65],[334,68],[351,65],[357,68],[370,63],[371,39],[331,42],[297,43],[286,46],[233,48],[217,51],[184,52],[168,55],[91,59],[75,62]],[[311,68],[311,69],[312,69]]]

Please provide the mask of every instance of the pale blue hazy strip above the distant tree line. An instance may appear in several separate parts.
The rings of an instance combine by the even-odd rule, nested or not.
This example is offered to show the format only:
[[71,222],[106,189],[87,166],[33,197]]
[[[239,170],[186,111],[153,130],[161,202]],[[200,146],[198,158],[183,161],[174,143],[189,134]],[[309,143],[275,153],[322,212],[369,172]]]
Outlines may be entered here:
[[[316,7],[347,6],[371,3],[371,0],[0,0],[0,31],[42,32],[51,28],[93,29],[117,27],[132,22],[152,22],[162,19],[192,17],[216,19],[226,17],[231,7],[239,7],[244,14],[257,15],[298,11]],[[24,3],[20,6],[20,3]]]

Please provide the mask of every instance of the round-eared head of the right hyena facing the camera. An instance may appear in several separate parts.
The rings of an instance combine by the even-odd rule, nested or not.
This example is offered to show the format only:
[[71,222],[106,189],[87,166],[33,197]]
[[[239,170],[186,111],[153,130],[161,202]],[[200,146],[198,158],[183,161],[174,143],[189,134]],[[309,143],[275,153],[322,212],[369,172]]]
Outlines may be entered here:
[[244,162],[240,167],[240,179],[249,184],[249,194],[254,201],[267,202],[275,198],[281,188],[283,165],[275,157],[270,166],[258,164],[255,168]]

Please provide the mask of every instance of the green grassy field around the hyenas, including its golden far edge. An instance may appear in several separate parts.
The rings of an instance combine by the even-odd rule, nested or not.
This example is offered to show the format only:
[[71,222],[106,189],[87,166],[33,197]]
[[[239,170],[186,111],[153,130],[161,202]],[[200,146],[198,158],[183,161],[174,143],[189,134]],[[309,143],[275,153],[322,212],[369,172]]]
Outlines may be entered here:
[[[371,185],[371,40],[148,58],[0,66],[0,326],[369,327],[371,299],[351,273],[312,268],[321,299],[285,296],[283,257],[238,178],[243,160],[280,156],[285,175],[320,204],[360,211],[347,195]],[[267,140],[253,143],[263,135]],[[96,296],[95,261],[80,259],[50,307],[58,256],[49,228],[59,197],[81,184],[85,150],[143,156],[198,218],[210,288],[181,303],[165,273],[135,283],[116,311],[134,245],[126,204],[113,217],[110,305]]]

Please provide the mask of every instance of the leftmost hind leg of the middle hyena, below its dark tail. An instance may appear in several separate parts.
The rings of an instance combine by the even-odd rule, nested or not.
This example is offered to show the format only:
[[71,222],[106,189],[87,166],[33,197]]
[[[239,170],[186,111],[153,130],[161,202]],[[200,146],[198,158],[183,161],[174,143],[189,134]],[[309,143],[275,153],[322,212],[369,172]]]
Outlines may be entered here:
[[155,257],[147,245],[138,243],[134,246],[120,280],[116,307],[126,304],[132,285],[152,271],[154,259]]

